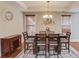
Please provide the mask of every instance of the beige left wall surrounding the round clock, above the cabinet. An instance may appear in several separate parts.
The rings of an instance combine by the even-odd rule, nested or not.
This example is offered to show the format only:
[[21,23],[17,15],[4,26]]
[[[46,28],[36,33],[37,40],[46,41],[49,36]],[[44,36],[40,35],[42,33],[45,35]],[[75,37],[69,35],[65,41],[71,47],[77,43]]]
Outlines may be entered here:
[[[3,19],[3,12],[5,10],[13,12],[13,20],[7,21]],[[23,31],[23,15],[20,9],[7,2],[0,2],[0,37],[5,37],[13,34],[18,34]]]

